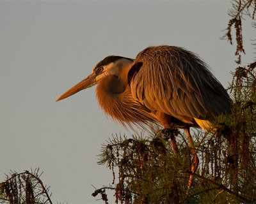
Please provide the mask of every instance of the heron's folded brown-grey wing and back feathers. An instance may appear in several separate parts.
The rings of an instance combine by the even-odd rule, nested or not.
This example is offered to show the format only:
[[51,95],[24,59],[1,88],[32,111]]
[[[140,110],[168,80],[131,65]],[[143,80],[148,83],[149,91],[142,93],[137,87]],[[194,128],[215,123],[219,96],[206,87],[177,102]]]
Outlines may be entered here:
[[140,69],[133,68],[129,75],[132,96],[150,110],[183,117],[184,122],[188,117],[210,119],[230,112],[227,92],[192,52],[180,47],[148,47],[134,63]]

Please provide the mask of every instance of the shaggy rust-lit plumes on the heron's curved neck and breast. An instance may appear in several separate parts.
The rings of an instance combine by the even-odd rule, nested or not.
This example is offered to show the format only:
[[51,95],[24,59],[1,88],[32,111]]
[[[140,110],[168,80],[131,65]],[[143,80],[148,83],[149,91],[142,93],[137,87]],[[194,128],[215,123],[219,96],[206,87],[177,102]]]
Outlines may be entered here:
[[96,92],[99,105],[104,112],[118,120],[125,128],[132,128],[132,124],[146,128],[149,122],[158,123],[154,114],[132,99],[127,82],[122,83],[118,77],[108,76],[102,79]]

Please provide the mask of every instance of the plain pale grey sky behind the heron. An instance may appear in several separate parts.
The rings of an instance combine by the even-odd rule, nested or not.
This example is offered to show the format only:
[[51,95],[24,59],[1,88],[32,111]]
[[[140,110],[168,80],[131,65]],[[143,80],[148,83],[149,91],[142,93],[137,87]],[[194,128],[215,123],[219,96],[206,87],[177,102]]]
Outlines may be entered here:
[[[220,40],[228,8],[224,0],[0,1],[1,182],[10,170],[40,167],[54,203],[102,203],[91,185],[112,174],[97,155],[126,131],[100,110],[95,87],[55,100],[103,57],[134,58],[149,45],[196,52],[227,87],[236,67],[235,47]],[[243,62],[253,59],[249,27]]]

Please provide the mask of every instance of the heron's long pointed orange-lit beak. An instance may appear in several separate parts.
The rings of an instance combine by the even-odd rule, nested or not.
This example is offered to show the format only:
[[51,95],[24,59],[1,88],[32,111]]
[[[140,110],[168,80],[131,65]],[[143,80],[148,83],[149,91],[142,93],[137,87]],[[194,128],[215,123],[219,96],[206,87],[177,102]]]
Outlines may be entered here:
[[71,89],[68,89],[64,94],[62,94],[57,100],[60,101],[62,99],[68,98],[69,96],[72,96],[73,94],[76,94],[77,92],[87,89],[89,87],[92,87],[93,85],[97,84],[95,74],[90,74],[88,77],[84,78],[81,82],[74,85]]

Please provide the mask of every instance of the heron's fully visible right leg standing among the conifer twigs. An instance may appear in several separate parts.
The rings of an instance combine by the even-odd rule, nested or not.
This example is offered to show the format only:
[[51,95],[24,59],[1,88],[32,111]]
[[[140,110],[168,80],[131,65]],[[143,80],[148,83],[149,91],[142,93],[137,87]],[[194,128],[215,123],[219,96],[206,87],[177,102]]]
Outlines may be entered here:
[[188,194],[189,189],[192,185],[192,181],[193,181],[193,177],[194,177],[193,174],[196,172],[197,167],[198,167],[199,159],[198,159],[198,156],[196,155],[196,150],[194,148],[193,139],[192,139],[192,136],[190,135],[189,128],[186,128],[184,130],[185,130],[186,135],[188,137],[189,147],[191,148],[191,152],[192,152],[192,156],[193,156],[193,159],[192,159],[191,164],[190,164],[191,175],[189,175],[189,180],[188,180],[188,189],[187,189],[187,194]]

